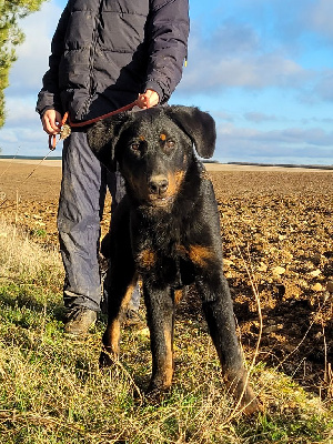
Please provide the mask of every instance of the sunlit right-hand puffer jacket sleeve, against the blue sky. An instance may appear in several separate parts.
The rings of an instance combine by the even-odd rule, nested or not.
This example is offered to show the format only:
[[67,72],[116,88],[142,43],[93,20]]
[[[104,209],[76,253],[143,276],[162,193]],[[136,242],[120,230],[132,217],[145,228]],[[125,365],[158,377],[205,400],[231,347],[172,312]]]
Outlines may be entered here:
[[181,80],[188,54],[189,0],[151,0],[145,89],[167,102]]

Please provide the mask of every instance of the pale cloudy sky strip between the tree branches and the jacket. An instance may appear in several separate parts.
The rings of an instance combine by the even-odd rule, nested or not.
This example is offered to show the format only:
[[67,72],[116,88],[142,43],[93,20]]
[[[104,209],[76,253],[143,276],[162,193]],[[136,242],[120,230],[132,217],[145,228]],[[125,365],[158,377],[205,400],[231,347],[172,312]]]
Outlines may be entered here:
[[10,72],[6,93],[6,125],[0,131],[3,154],[44,155],[48,135],[34,111],[41,79],[48,69],[51,38],[61,10],[54,2],[43,3],[40,11],[20,23],[26,40],[17,50],[18,60]]

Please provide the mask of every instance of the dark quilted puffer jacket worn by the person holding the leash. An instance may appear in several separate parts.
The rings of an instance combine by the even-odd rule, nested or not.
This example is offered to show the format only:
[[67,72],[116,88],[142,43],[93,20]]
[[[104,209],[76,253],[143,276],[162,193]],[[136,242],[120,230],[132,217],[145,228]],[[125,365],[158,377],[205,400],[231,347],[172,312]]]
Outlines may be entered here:
[[182,75],[188,36],[189,0],[69,0],[37,111],[90,119],[145,89],[167,102]]

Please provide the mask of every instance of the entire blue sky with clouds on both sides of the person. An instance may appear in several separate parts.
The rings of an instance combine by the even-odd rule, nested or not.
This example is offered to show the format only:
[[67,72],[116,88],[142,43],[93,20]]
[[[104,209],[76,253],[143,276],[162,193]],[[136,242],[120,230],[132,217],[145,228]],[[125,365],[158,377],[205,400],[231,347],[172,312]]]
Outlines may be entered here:
[[[49,152],[34,107],[64,6],[50,0],[21,21],[2,154]],[[333,0],[190,0],[190,19],[188,67],[170,103],[212,114],[213,159],[333,164]]]

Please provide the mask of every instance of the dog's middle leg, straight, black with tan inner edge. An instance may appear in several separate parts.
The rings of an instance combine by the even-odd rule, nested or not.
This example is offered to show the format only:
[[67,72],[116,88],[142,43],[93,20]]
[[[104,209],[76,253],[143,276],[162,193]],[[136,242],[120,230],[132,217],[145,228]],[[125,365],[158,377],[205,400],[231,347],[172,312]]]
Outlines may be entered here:
[[151,336],[152,376],[148,393],[171,386],[173,375],[174,300],[170,289],[143,287]]

